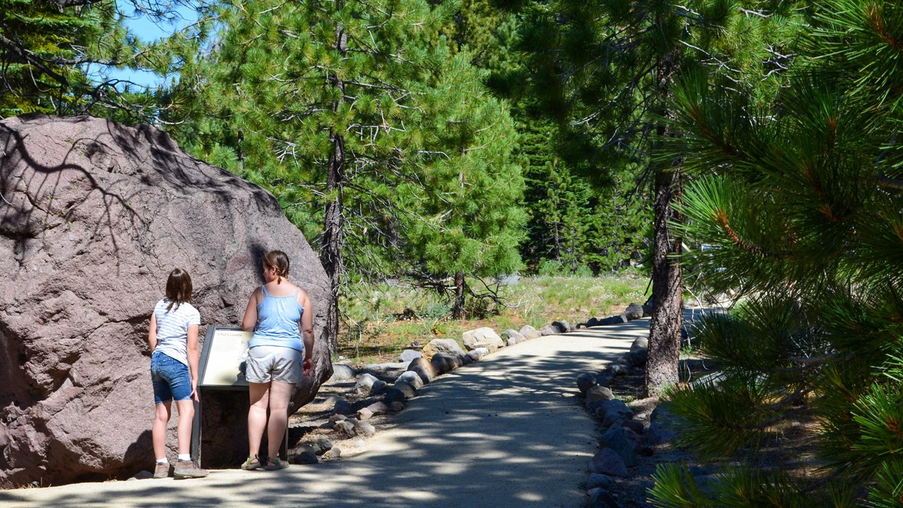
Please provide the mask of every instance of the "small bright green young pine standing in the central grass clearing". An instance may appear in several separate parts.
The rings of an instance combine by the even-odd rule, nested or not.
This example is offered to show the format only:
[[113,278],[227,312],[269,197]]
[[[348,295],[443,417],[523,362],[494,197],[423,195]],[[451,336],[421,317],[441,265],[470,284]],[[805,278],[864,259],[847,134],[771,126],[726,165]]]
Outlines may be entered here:
[[430,192],[408,215],[415,221],[407,225],[412,241],[405,247],[433,285],[453,278],[455,318],[465,317],[468,294],[478,296],[465,276],[491,278],[520,268],[517,245],[525,219],[523,178],[511,157],[514,122],[503,102],[479,99],[486,72],[469,60],[459,53],[435,88],[442,123],[424,131],[424,144],[441,156],[425,174]]

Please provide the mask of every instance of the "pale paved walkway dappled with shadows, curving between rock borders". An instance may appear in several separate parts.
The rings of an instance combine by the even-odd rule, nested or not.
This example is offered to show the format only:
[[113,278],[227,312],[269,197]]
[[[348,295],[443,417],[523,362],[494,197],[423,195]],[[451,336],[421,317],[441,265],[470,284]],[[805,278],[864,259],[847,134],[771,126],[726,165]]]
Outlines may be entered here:
[[575,400],[577,374],[599,371],[647,334],[642,319],[503,348],[424,386],[358,456],[0,491],[0,505],[578,507],[597,430]]

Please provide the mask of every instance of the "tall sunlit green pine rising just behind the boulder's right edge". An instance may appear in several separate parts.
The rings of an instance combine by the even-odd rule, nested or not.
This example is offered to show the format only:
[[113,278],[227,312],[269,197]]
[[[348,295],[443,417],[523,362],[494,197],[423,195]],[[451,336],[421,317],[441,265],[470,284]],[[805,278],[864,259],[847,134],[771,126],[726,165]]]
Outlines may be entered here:
[[[471,148],[437,141],[454,131],[447,98],[458,96],[445,73],[461,61],[441,35],[452,8],[398,0],[230,5],[218,52],[191,72],[196,82],[183,78],[183,88],[203,90],[199,112],[213,114],[177,136],[272,190],[308,238],[319,237],[333,348],[349,263],[363,274],[408,266],[399,254],[422,240],[405,225],[423,221],[433,193],[426,183],[444,185],[433,172]],[[485,96],[470,91],[464,108],[486,108]],[[506,125],[504,109],[494,114],[482,123],[485,136]]]

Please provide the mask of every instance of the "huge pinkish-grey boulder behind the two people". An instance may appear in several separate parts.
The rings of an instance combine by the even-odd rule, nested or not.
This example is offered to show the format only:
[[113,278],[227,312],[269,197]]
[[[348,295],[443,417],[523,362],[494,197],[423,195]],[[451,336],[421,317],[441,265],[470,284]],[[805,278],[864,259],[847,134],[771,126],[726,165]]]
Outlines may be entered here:
[[[314,373],[295,407],[329,379],[328,280],[301,232],[272,194],[163,132],[7,118],[0,194],[0,487],[127,477],[152,464],[147,327],[172,268],[191,274],[203,340],[207,325],[240,325],[263,254],[284,250],[315,313]],[[204,431],[205,463],[227,447],[247,455],[247,393],[232,393],[202,397],[205,428],[216,430]],[[167,442],[175,447],[174,427]]]

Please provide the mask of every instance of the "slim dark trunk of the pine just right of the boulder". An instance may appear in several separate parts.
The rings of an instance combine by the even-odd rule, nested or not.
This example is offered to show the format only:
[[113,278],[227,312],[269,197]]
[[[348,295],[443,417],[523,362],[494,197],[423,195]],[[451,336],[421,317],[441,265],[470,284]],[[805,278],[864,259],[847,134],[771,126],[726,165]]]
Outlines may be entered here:
[[[342,57],[348,50],[348,36],[341,27],[336,28],[336,50]],[[345,83],[339,78],[333,77],[331,83],[340,89],[340,97],[345,95]],[[339,101],[332,104],[332,110],[339,109]],[[343,228],[345,216],[343,214],[344,192],[344,166],[345,166],[345,138],[340,131],[330,128],[330,142],[332,151],[326,165],[326,195],[332,196],[326,205],[326,215],[323,227],[323,242],[320,252],[320,261],[330,278],[330,301],[326,312],[326,336],[330,343],[330,353],[339,352],[339,295],[341,287],[342,244],[344,243]]]

